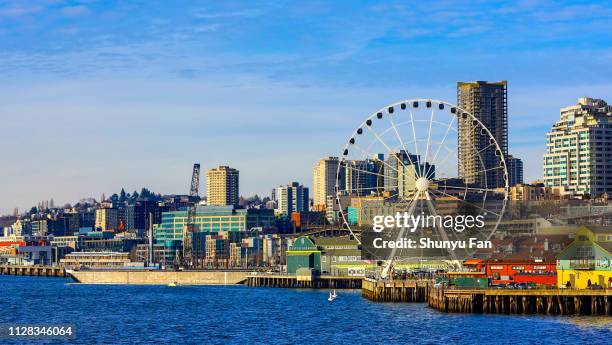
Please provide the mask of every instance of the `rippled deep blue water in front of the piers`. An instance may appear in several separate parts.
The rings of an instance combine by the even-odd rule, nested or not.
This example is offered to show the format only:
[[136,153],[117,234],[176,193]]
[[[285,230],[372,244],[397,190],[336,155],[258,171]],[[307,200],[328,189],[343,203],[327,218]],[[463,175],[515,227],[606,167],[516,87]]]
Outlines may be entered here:
[[[65,324],[79,344],[609,344],[610,317],[444,314],[358,290],[80,285],[0,276],[0,323]],[[0,340],[0,343],[6,343]],[[57,342],[65,343],[65,342]]]

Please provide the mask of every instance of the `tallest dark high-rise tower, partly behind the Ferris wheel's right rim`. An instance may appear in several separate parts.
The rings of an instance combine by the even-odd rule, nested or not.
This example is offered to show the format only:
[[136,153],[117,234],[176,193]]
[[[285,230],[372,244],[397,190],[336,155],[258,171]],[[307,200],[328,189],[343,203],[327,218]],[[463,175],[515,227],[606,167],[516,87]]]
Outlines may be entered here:
[[[508,156],[508,102],[507,81],[459,82],[457,105],[471,113],[491,132],[497,141],[500,154]],[[505,186],[503,169],[490,137],[469,117],[458,114],[458,173],[466,183],[481,187]]]

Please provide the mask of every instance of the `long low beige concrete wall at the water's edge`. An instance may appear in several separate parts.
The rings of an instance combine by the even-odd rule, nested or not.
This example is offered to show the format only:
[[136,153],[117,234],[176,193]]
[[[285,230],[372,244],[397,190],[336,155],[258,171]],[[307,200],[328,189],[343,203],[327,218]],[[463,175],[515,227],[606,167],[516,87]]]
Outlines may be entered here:
[[149,271],[149,270],[67,270],[83,284],[134,285],[235,285],[246,281],[247,271]]

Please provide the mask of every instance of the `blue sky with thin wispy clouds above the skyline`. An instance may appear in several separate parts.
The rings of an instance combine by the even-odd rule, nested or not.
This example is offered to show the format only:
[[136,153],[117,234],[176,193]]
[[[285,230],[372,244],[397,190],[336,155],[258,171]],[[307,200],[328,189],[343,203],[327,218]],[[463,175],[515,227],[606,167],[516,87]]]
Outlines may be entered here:
[[0,213],[126,187],[312,184],[372,111],[509,82],[510,152],[541,175],[578,97],[612,101],[612,4],[594,1],[0,1]]

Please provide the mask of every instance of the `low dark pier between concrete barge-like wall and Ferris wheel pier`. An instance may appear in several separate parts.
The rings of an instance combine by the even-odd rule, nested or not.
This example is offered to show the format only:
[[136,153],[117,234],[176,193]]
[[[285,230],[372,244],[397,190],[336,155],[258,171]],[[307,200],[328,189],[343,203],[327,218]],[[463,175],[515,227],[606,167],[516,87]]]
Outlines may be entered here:
[[292,274],[251,274],[246,279],[247,286],[310,289],[360,289],[361,277],[338,276],[297,276]]

